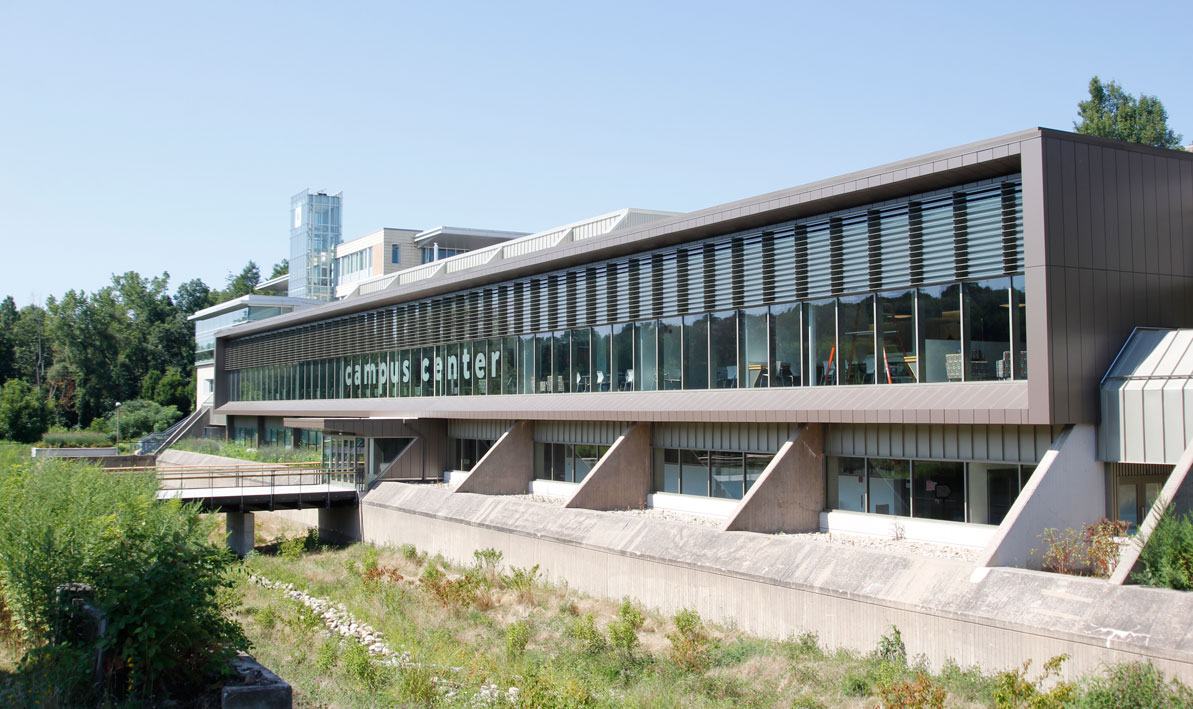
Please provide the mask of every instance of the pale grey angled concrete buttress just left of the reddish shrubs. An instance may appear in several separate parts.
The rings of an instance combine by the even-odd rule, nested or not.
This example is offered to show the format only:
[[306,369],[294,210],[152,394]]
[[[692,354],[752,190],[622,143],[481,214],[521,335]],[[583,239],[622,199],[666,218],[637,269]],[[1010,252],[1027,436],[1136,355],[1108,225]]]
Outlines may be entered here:
[[1045,529],[1080,530],[1106,516],[1105,467],[1095,458],[1094,436],[1089,424],[1057,436],[978,556],[972,580],[982,580],[991,566],[1038,569],[1041,557],[1032,549],[1039,549]]

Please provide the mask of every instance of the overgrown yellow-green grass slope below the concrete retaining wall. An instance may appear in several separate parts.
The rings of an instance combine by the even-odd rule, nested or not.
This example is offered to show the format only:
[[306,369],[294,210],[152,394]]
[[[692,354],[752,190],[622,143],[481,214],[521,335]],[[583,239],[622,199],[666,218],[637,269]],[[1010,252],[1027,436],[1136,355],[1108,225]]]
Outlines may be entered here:
[[[481,686],[495,683],[503,691],[519,688],[525,705],[872,707],[878,685],[914,677],[904,665],[826,653],[810,637],[775,642],[725,628],[707,629],[707,670],[685,672],[669,659],[673,621],[650,614],[632,658],[612,649],[586,652],[570,630],[577,618],[593,616],[607,639],[618,604],[542,584],[519,594],[497,580],[476,603],[445,606],[414,581],[428,563],[421,556],[381,550],[378,567],[403,580],[365,580],[361,568],[377,554],[357,544],[301,560],[248,560],[254,573],[344,603],[394,649],[409,651],[428,665],[397,670],[370,662],[347,641],[329,639],[296,602],[246,580],[241,619],[253,652],[295,686],[296,704],[468,705]],[[449,569],[449,575],[460,571]],[[515,623],[530,630],[523,653],[507,651]],[[950,707],[990,702],[991,682],[976,671],[953,668],[937,679],[947,688]],[[457,696],[446,699],[437,692],[441,683],[458,688]]]

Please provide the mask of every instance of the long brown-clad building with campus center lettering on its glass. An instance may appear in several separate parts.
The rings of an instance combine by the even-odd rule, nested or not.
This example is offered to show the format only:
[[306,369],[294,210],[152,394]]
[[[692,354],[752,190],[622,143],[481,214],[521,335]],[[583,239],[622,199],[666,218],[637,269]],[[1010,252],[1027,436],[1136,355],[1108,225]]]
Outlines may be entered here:
[[1193,326],[1193,155],[1031,129],[623,211],[221,331],[215,413],[370,481],[972,545],[1055,458],[1129,522],[1172,470],[1096,425],[1135,328]]

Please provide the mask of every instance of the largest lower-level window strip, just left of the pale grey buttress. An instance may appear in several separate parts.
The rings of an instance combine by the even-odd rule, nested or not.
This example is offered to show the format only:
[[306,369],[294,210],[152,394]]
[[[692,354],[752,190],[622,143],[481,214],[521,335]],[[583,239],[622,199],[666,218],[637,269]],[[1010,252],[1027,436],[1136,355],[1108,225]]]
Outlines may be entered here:
[[1036,469],[1018,463],[827,458],[828,507],[999,524]]

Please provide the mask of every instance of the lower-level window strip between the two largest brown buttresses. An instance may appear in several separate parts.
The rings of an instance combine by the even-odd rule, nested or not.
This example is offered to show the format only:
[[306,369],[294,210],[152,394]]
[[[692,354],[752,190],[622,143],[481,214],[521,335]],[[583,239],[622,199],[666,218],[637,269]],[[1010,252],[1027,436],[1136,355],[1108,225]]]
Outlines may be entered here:
[[773,454],[654,449],[651,492],[740,500],[771,464]]

